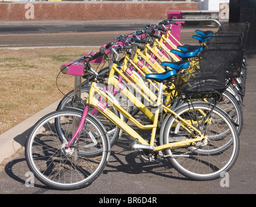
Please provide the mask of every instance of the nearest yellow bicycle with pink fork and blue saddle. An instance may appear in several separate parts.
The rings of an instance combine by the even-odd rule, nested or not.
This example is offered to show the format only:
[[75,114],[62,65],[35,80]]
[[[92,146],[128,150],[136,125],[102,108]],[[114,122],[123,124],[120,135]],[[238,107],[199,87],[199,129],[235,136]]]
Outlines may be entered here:
[[[50,113],[29,133],[25,156],[38,180],[51,188],[73,190],[84,188],[99,177],[109,159],[110,144],[101,122],[88,114],[89,105],[127,133],[133,140],[131,147],[141,149],[148,160],[167,158],[173,168],[190,179],[218,179],[232,168],[238,156],[238,134],[222,109],[206,102],[188,102],[174,110],[164,105],[163,82],[172,79],[175,71],[146,76],[160,83],[157,102],[151,105],[151,110],[116,78],[109,80],[149,117],[149,124],[144,124],[97,86],[102,79],[90,67],[93,59],[94,56],[84,57],[84,61],[88,60],[84,73],[92,74],[96,81],[90,87],[84,110],[64,109]],[[113,67],[117,67],[116,62]],[[143,137],[123,122],[95,98],[95,94],[105,98],[139,129],[150,130],[151,137]],[[164,120],[162,111],[168,113]],[[205,116],[201,116],[201,111]]]

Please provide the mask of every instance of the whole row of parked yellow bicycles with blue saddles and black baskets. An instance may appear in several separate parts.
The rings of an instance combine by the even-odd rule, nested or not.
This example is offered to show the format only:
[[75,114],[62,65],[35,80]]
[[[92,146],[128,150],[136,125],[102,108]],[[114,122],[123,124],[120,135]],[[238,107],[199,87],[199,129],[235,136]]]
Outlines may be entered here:
[[[38,180],[62,190],[88,186],[122,133],[142,159],[167,158],[190,179],[218,179],[231,169],[242,130],[250,24],[196,30],[198,45],[181,45],[173,24],[148,25],[62,65],[61,72],[85,81],[81,96],[66,94],[31,129],[25,155]],[[93,69],[103,61],[109,65]]]

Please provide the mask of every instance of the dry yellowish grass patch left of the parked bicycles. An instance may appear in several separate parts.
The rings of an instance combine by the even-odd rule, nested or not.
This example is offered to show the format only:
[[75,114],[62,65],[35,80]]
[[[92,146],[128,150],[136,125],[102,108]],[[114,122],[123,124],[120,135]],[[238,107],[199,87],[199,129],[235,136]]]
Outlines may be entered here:
[[[1,49],[0,135],[63,97],[56,78],[60,65],[97,48]],[[73,76],[60,74],[63,93],[73,89]]]

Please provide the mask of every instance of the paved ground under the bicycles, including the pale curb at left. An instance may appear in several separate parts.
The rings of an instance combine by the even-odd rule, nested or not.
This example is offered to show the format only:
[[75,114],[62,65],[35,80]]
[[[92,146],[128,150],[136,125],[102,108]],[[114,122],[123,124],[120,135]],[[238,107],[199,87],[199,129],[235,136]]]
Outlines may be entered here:
[[[105,21],[105,23],[107,23]],[[13,23],[14,24],[14,23]],[[95,23],[96,24],[96,23]],[[0,22],[3,25],[3,22]],[[187,33],[190,35],[190,33]],[[190,39],[190,36],[186,37]],[[220,185],[222,179],[196,182],[181,176],[168,162],[144,162],[137,151],[130,151],[131,140],[123,135],[112,147],[109,164],[90,186],[75,191],[51,190],[38,180],[31,186],[23,146],[29,128],[44,114],[55,111],[57,102],[0,135],[0,193],[8,194],[251,194],[256,193],[256,56],[248,58],[248,78],[244,97],[244,125],[240,135],[240,154],[229,171],[229,185]],[[170,198],[170,197],[168,197]],[[98,204],[99,198],[90,200]]]

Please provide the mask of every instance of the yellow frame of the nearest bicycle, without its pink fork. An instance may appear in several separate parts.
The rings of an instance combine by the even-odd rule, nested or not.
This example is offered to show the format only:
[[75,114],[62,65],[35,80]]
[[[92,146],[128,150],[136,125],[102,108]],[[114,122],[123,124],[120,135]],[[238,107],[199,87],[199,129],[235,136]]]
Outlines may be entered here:
[[[119,83],[118,80],[116,80],[115,83]],[[120,91],[122,91],[122,90],[120,90]],[[127,89],[124,89],[123,91],[125,91],[124,93],[129,94],[129,91]],[[99,100],[94,98],[95,93],[100,94],[105,100],[107,100],[107,102],[110,102],[118,111],[120,111],[120,113],[122,113],[126,118],[128,118],[129,121],[131,121],[134,125],[136,125],[136,127],[140,128],[140,129],[152,129],[150,142],[147,143],[147,141],[144,138],[142,138],[142,136],[138,135],[138,133],[136,133],[136,131],[134,131],[134,129],[132,129],[129,125],[127,125],[125,122],[123,122],[118,116],[116,116],[114,113],[112,113],[112,111],[110,111],[101,102],[99,102]],[[133,96],[133,94],[130,94],[130,95]],[[133,96],[133,98],[131,98],[131,100],[133,100],[134,103],[138,104],[140,102],[139,100],[134,100],[134,99],[136,99],[136,98]],[[158,125],[158,122],[159,122],[158,121],[158,116],[159,116],[160,107],[155,112],[155,115],[153,115],[152,118],[151,118],[151,120],[153,120],[153,124],[142,125],[133,116],[131,116],[131,114],[127,113],[127,111],[125,111],[125,109],[123,109],[119,105],[119,103],[116,103],[114,100],[112,100],[112,98],[110,98],[110,96],[108,96],[100,88],[98,88],[96,82],[93,82],[92,85],[91,85],[90,93],[89,93],[88,98],[86,100],[86,104],[90,104],[93,107],[96,107],[96,109],[100,113],[102,113],[107,119],[109,119],[115,125],[120,127],[120,129],[122,129],[122,131],[124,131],[127,135],[129,135],[133,139],[138,139],[138,143],[153,146],[153,144],[155,142],[155,135],[156,135],[156,131],[157,131],[157,125]],[[160,100],[157,101],[157,105],[160,105]],[[140,109],[142,109],[142,111],[144,113],[147,113],[149,111],[149,109],[147,109],[146,106],[143,106],[142,103],[138,104],[138,107],[140,107]],[[183,118],[178,116],[174,111],[172,111],[168,107],[165,107],[164,105],[162,105],[162,107],[163,107],[163,109],[168,111],[168,113],[172,113],[175,116],[177,116],[181,120],[181,122],[183,123],[183,124],[181,124],[181,127],[183,127],[191,135],[194,135],[194,133],[192,131],[190,131],[190,129],[188,129],[185,125],[188,125],[191,129],[196,131],[199,134],[199,136],[197,136],[195,138],[192,138],[192,139],[189,139],[189,140],[183,140],[183,141],[179,141],[179,142],[173,142],[173,143],[170,143],[170,144],[164,144],[162,146],[153,147],[153,151],[159,151],[159,150],[162,150],[162,149],[173,148],[173,147],[190,146],[191,144],[199,142],[199,141],[203,140],[203,138],[205,138],[205,136],[203,136],[201,134],[201,132],[198,129],[196,129],[196,127],[194,127],[192,124],[186,122],[186,120],[184,120]]]

